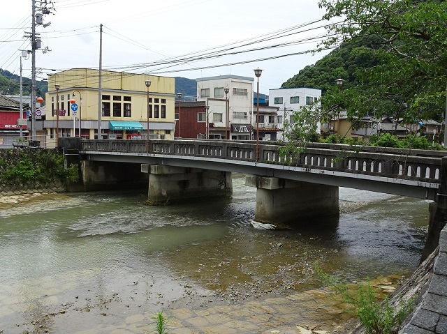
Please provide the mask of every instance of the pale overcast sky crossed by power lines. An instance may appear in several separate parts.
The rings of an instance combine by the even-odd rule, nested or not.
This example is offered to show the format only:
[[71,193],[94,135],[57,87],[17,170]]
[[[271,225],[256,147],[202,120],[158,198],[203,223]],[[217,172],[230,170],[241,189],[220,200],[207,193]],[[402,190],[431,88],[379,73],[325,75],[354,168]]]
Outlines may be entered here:
[[[30,50],[24,35],[31,31],[31,4],[31,0],[8,1],[8,11],[1,15],[0,68],[17,75],[19,50]],[[36,29],[42,49],[49,50],[36,52],[38,79],[52,70],[98,68],[100,24],[104,70],[197,79],[254,77],[254,68],[261,68],[261,93],[279,88],[328,54],[300,54],[314,49],[325,34],[318,29],[326,23],[317,22],[324,14],[318,0],[54,0],[53,4],[52,13],[43,17],[50,26]],[[210,59],[211,53],[217,57]],[[288,54],[295,55],[284,56]],[[180,56],[184,56],[181,63]],[[31,77],[31,58],[23,60],[23,68],[24,76]]]

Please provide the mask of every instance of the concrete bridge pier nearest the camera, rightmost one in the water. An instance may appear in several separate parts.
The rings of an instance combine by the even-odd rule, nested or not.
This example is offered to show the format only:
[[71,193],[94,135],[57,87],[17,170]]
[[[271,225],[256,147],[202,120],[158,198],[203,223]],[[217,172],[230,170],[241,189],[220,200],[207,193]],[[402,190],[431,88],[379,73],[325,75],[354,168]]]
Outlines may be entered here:
[[339,215],[338,187],[334,185],[256,175],[247,175],[245,185],[257,188],[257,222],[300,225],[303,218]]

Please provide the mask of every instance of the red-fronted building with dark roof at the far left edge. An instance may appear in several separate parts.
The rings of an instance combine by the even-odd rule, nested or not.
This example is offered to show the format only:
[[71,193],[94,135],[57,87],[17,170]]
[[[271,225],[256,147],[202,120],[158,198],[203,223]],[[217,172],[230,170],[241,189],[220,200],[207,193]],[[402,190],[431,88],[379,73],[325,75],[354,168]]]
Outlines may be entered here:
[[[23,109],[28,107],[23,104]],[[13,137],[20,135],[20,126],[17,119],[26,119],[27,113],[22,112],[20,117],[20,103],[13,98],[0,95],[0,146],[12,147]],[[27,126],[22,126],[23,135],[28,134]]]

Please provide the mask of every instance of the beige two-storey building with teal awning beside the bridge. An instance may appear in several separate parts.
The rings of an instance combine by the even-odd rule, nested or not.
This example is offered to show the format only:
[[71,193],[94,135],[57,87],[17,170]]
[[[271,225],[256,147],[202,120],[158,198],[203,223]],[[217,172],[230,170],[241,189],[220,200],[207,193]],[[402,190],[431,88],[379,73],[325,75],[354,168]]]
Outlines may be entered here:
[[51,75],[38,130],[50,138],[96,139],[101,131],[102,139],[145,139],[149,126],[151,139],[174,138],[174,78],[105,70],[101,78],[100,85],[99,71],[89,68]]

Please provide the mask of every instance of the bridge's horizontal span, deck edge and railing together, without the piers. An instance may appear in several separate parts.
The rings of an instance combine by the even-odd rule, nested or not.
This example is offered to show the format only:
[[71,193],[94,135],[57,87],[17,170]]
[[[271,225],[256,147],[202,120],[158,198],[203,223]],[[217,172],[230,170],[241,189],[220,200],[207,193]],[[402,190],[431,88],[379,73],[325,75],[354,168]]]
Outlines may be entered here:
[[[67,138],[69,139],[69,138]],[[370,146],[309,144],[298,158],[284,146],[214,140],[81,139],[90,160],[197,167],[339,185],[395,195],[435,199],[445,151],[385,149]],[[68,145],[70,146],[70,145]]]

